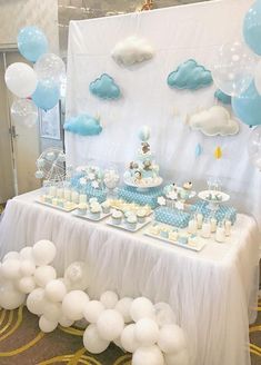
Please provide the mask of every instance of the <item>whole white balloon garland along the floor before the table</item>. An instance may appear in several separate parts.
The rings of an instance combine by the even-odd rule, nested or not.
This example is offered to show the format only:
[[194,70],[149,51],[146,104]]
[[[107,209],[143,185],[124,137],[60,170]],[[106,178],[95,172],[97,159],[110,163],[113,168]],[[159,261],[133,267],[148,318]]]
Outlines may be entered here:
[[111,290],[99,300],[91,299],[86,293],[90,285],[87,264],[74,262],[63,277],[57,277],[50,265],[56,254],[50,240],[8,253],[0,263],[0,306],[14,309],[26,303],[39,316],[44,333],[84,318],[83,345],[92,354],[102,353],[113,342],[133,354],[132,365],[189,364],[187,336],[167,303],[119,298]]

